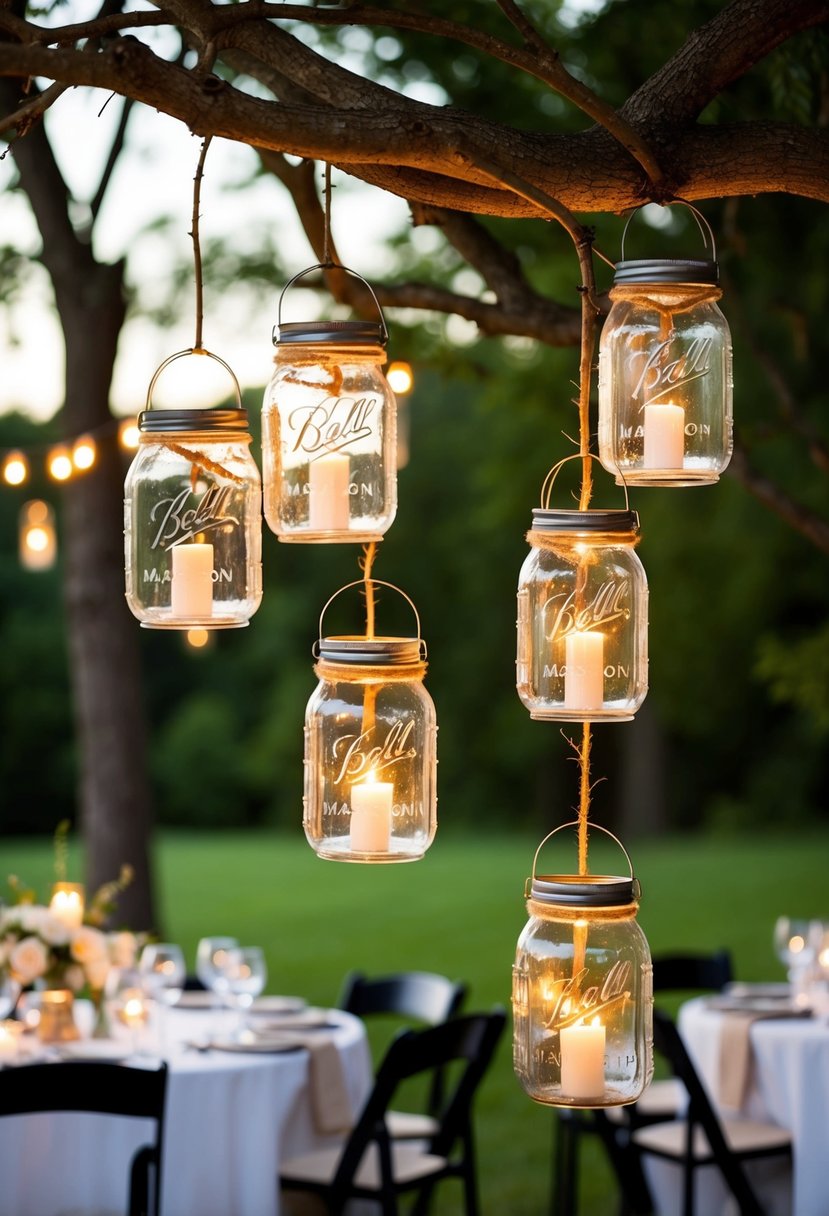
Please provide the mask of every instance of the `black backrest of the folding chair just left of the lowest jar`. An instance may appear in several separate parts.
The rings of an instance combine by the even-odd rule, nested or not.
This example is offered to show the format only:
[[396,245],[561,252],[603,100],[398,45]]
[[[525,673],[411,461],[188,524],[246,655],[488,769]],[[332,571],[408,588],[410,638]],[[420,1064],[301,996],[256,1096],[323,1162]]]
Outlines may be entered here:
[[[345,1144],[334,1184],[346,1184],[354,1177],[372,1142],[379,1144],[383,1171],[389,1171],[385,1115],[397,1087],[410,1077],[462,1062],[459,1075],[446,1093],[438,1116],[439,1128],[429,1145],[432,1153],[449,1156],[456,1141],[469,1136],[472,1099],[490,1065],[506,1020],[504,1010],[497,1007],[492,1013],[467,1014],[427,1030],[405,1030],[397,1035],[383,1058],[374,1087]],[[389,1181],[390,1173],[387,1172],[384,1184]]]

